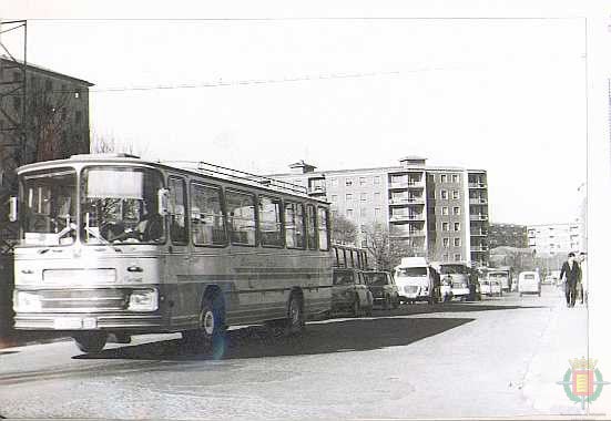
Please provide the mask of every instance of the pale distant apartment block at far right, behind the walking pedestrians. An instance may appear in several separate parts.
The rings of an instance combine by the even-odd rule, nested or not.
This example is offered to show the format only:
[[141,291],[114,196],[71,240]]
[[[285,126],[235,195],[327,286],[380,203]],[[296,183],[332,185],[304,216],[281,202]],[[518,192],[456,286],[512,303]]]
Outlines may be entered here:
[[569,251],[581,251],[581,223],[529,225],[528,247],[538,256],[564,255]]

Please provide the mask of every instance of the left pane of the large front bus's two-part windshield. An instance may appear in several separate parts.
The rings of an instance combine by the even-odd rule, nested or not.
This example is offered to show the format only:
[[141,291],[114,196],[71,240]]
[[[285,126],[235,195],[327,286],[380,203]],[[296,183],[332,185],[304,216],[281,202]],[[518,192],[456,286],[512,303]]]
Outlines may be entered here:
[[20,178],[20,244],[59,246],[77,238],[77,172],[54,168]]

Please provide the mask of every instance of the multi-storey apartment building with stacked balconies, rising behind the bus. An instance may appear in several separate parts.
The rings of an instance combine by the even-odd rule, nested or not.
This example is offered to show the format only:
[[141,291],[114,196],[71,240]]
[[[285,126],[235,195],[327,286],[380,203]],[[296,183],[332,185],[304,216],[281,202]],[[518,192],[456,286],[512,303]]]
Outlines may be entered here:
[[360,230],[381,223],[394,242],[430,260],[488,263],[483,170],[427,166],[426,158],[418,156],[373,168],[316,171],[303,161],[289,167],[291,173],[271,176],[326,198],[333,215],[346,216]]

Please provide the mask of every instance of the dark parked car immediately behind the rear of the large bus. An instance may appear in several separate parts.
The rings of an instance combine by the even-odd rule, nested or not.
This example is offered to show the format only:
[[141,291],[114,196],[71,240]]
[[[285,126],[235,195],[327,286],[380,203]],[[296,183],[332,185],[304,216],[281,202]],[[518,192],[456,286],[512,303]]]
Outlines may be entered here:
[[358,317],[370,316],[373,309],[374,296],[363,270],[333,268],[332,312],[349,311]]

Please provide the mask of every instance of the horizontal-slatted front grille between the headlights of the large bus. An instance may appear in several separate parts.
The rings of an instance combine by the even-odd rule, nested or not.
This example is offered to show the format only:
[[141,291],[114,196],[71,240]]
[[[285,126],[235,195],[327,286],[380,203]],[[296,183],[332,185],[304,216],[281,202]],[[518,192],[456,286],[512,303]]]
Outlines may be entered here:
[[39,291],[42,311],[116,311],[128,308],[126,289],[47,289]]

